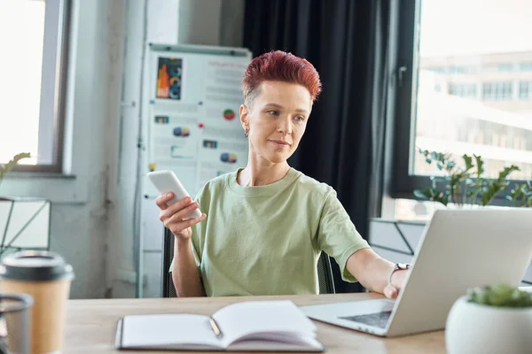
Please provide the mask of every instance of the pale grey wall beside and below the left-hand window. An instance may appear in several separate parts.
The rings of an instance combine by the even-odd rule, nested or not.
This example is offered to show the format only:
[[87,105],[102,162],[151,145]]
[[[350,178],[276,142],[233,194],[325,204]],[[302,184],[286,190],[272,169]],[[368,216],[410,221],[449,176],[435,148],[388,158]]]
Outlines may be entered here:
[[[66,167],[74,178],[8,178],[0,194],[51,199],[51,250],[74,266],[73,298],[106,295],[107,211],[113,207],[121,0],[74,0],[66,117]],[[15,176],[15,175],[13,175]]]

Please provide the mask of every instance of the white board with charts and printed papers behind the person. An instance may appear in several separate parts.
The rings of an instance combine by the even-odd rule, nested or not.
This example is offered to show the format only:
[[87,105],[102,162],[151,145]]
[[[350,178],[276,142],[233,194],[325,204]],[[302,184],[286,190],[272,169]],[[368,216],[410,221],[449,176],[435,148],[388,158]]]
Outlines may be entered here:
[[[150,59],[148,170],[174,171],[192,196],[207,181],[247,164],[239,107],[251,53],[228,54],[169,50],[154,51]],[[145,193],[151,194],[153,189]]]

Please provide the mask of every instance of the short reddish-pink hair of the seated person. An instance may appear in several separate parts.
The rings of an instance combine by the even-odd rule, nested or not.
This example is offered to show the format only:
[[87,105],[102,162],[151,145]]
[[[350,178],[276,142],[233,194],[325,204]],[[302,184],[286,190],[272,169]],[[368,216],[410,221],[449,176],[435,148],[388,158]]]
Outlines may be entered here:
[[309,61],[281,50],[270,51],[254,58],[247,65],[242,91],[246,102],[253,100],[263,81],[295,83],[309,90],[312,101],[317,100],[322,85],[319,74]]

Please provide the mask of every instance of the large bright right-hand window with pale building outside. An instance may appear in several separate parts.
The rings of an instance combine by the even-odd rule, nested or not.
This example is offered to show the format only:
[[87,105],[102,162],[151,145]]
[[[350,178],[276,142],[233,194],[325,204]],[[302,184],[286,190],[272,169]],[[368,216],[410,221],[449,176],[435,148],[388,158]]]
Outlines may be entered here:
[[[528,81],[515,81],[515,71],[532,71],[532,6],[525,3],[400,3],[392,31],[397,35],[393,64],[398,79],[389,101],[394,113],[388,150],[393,158],[387,160],[395,216],[424,218],[434,209],[434,204],[405,201],[441,173],[419,149],[450,153],[458,161],[464,154],[481,155],[486,177],[518,165],[521,171],[510,175],[512,183],[532,179],[532,88]],[[477,70],[460,69],[464,67]],[[450,74],[464,72],[461,77]],[[500,196],[496,203],[508,202]],[[410,209],[401,212],[406,204]]]

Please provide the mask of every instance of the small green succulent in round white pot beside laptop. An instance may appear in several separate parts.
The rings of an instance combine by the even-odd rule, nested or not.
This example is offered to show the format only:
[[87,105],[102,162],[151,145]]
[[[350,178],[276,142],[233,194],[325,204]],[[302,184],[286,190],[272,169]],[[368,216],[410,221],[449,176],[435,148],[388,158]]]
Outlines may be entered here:
[[505,284],[472,289],[450,309],[450,354],[532,352],[532,293]]

